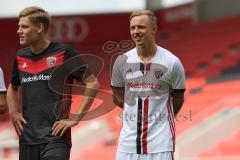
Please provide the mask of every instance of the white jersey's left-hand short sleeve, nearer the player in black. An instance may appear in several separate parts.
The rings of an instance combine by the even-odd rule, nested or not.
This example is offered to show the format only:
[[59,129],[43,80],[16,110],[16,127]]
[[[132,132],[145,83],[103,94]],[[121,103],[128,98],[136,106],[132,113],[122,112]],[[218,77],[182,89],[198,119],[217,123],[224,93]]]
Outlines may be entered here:
[[120,55],[117,57],[114,62],[112,69],[112,78],[111,78],[111,86],[112,87],[124,87],[124,79],[122,75],[123,63],[125,61],[125,56]]

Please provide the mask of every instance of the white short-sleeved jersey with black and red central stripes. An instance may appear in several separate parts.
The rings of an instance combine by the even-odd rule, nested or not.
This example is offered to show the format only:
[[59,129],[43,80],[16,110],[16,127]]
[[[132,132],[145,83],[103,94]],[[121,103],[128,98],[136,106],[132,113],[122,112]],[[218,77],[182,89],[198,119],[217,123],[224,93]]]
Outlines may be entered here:
[[170,93],[185,90],[180,60],[158,46],[152,60],[144,64],[134,48],[116,59],[111,85],[125,88],[118,151],[137,154],[174,151]]

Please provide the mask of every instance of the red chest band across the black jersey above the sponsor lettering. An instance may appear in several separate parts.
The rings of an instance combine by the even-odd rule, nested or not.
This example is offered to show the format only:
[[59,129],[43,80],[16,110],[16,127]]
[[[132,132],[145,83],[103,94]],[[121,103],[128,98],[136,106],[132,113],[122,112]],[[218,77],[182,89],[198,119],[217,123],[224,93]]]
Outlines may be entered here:
[[65,51],[62,51],[62,52],[59,52],[52,56],[49,56],[49,57],[56,58],[56,61],[53,63],[52,66],[51,65],[49,66],[49,64],[48,64],[47,58],[49,58],[49,57],[44,57],[38,61],[34,61],[34,60],[27,59],[27,58],[24,58],[21,56],[17,56],[18,69],[20,71],[27,72],[30,74],[37,74],[37,73],[47,70],[49,68],[61,65],[64,60],[64,52]]

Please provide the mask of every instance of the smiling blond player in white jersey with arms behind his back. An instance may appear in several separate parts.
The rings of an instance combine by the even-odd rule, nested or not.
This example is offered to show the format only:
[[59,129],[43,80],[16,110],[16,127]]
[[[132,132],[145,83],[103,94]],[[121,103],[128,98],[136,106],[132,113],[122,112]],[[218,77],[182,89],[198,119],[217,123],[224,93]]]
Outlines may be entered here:
[[116,160],[174,159],[174,117],[183,105],[185,74],[180,60],[155,43],[156,32],[153,12],[133,12],[136,47],[113,66],[113,101],[123,108]]

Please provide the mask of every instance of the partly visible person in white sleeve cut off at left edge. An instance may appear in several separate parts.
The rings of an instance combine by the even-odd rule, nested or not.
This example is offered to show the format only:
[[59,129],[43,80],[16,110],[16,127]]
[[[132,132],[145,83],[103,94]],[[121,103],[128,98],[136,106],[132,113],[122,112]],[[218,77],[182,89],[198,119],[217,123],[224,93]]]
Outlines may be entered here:
[[0,114],[5,113],[7,108],[6,93],[7,90],[4,83],[3,71],[2,68],[0,67]]

